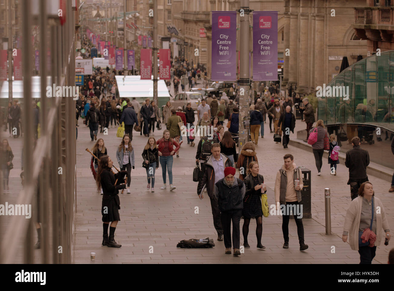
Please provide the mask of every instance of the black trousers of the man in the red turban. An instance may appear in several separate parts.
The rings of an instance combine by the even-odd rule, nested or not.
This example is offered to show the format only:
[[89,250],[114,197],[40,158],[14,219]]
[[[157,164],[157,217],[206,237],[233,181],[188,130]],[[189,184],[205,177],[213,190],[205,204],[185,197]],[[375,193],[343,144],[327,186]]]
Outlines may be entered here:
[[233,248],[240,248],[240,221],[242,209],[222,211],[220,213],[223,225],[224,246],[231,248],[231,221],[232,221],[232,245]]

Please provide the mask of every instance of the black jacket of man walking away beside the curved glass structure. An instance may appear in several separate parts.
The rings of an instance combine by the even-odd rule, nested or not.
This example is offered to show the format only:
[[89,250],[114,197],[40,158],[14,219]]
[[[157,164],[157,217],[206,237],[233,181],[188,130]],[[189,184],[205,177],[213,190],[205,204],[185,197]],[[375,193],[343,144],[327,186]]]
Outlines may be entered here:
[[367,177],[367,166],[369,165],[369,154],[360,145],[354,145],[346,153],[345,166],[349,168],[349,179],[357,180]]

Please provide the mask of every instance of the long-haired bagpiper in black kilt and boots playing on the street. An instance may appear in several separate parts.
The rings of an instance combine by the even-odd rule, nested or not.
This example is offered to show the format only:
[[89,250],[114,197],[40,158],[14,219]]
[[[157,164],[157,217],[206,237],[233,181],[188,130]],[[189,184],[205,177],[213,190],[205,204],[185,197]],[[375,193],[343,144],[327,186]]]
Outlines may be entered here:
[[[126,188],[124,177],[126,171],[113,174],[112,160],[107,155],[100,157],[99,169],[96,176],[97,190],[102,188],[102,226],[103,226],[103,239],[102,245],[112,248],[120,248],[122,245],[115,241],[115,229],[118,221],[121,220],[119,216],[120,200],[118,191]],[[110,235],[108,237],[108,225],[110,224]]]

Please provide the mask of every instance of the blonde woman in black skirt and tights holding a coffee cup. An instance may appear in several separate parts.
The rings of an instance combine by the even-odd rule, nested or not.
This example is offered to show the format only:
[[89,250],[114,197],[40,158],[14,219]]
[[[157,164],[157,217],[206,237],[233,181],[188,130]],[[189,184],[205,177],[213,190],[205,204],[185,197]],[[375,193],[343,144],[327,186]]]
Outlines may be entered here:
[[243,246],[250,248],[247,242],[247,235],[249,233],[249,223],[251,218],[256,218],[256,237],[257,237],[257,248],[264,250],[266,248],[261,244],[261,236],[263,232],[262,216],[263,211],[261,208],[261,195],[267,192],[267,187],[264,184],[264,177],[260,175],[258,163],[253,161],[248,165],[249,174],[243,180],[245,183],[246,192],[245,198],[243,199]]

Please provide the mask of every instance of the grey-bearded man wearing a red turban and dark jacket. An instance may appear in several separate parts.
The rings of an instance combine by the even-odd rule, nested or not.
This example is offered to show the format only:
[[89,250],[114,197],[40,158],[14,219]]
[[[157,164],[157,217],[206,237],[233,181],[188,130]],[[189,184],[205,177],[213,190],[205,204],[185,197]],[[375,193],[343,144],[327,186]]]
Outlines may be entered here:
[[240,253],[240,220],[243,209],[243,197],[245,196],[245,184],[241,179],[235,178],[235,168],[226,167],[224,178],[216,182],[214,195],[217,199],[220,218],[223,226],[225,254],[231,254],[231,220],[232,220],[232,244],[234,256]]

